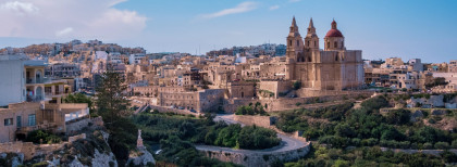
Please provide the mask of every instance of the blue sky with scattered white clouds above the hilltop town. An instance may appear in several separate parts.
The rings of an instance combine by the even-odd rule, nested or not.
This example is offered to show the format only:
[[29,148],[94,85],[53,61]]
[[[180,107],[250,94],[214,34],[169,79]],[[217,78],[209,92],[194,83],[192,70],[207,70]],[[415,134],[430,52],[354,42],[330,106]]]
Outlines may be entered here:
[[320,46],[334,18],[349,50],[367,60],[457,60],[455,0],[0,0],[0,48],[72,39],[147,52],[205,54],[285,43],[295,15],[312,17]]

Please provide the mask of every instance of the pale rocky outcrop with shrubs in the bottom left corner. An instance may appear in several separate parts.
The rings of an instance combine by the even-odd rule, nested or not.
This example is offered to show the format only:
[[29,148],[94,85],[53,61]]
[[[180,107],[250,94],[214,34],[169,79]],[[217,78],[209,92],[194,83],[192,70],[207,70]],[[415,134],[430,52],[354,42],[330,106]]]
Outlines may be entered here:
[[118,167],[115,156],[108,144],[108,136],[102,130],[87,132],[84,138],[73,138],[72,142],[26,160],[24,160],[24,154],[0,153],[0,166]]

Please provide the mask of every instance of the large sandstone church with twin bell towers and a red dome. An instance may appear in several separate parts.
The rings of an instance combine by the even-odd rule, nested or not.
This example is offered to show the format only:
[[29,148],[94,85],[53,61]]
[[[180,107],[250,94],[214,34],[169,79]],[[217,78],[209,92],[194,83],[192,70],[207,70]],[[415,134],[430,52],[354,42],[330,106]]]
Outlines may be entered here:
[[324,37],[324,49],[312,18],[302,39],[295,17],[287,36],[286,79],[298,80],[302,88],[314,90],[353,90],[363,85],[361,50],[346,50],[344,36],[336,22]]

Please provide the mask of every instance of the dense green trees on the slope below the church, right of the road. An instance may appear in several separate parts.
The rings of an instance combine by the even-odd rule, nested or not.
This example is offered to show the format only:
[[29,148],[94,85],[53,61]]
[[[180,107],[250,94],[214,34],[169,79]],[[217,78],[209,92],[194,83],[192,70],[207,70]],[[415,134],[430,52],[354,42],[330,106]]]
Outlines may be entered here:
[[[318,140],[333,147],[373,146],[399,149],[457,147],[457,134],[425,126],[422,121],[410,123],[410,112],[396,110],[380,113],[388,101],[381,95],[361,103],[341,104],[318,110],[297,110],[280,115],[276,127],[291,132],[302,130],[304,137]],[[310,118],[319,121],[310,121]]]

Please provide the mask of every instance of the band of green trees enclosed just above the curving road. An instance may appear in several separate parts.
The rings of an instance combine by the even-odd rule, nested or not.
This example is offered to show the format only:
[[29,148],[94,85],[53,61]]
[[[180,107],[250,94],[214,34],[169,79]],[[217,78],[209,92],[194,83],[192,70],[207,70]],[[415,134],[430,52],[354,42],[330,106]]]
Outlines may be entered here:
[[212,117],[195,118],[174,114],[140,114],[133,117],[148,142],[159,142],[172,136],[192,143],[203,143],[235,149],[267,149],[277,145],[281,139],[270,129],[214,123]]

